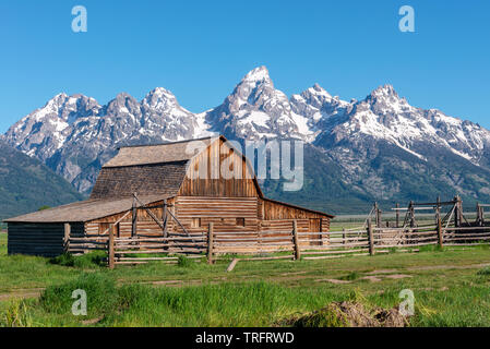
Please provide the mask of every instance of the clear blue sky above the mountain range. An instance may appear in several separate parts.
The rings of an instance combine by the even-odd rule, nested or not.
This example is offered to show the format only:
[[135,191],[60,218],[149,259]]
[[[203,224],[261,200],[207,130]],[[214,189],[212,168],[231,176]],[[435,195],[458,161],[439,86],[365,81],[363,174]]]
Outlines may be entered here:
[[[74,5],[87,32],[71,27]],[[415,33],[398,29],[402,5]],[[490,1],[0,0],[0,132],[60,92],[106,104],[162,86],[191,111],[266,65],[287,95],[343,99],[393,84],[422,108],[490,129]]]

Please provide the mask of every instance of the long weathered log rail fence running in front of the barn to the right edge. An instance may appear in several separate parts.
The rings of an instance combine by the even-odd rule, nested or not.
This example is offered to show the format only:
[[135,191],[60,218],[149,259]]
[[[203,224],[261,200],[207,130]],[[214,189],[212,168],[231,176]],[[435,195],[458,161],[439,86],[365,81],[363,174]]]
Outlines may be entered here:
[[[152,261],[178,263],[179,255],[195,262],[214,263],[230,260],[228,270],[239,261],[321,260],[347,255],[374,255],[397,251],[414,251],[425,245],[463,246],[488,243],[490,227],[449,227],[438,224],[423,227],[378,228],[367,220],[366,228],[328,232],[298,232],[292,229],[259,233],[214,231],[206,233],[144,236],[118,238],[118,224],[110,225],[108,234],[68,238],[67,251],[81,253],[93,250],[107,252],[110,268],[119,264],[143,264]],[[70,228],[67,225],[67,237]]]

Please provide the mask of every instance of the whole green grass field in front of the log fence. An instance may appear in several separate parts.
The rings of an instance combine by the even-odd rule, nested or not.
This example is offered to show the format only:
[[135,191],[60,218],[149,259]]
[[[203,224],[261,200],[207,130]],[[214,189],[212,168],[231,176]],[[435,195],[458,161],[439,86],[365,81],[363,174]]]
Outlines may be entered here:
[[[151,263],[113,270],[76,257],[8,256],[0,233],[0,326],[274,326],[332,301],[396,306],[415,293],[411,326],[490,326],[490,250],[458,248],[319,261]],[[87,292],[87,315],[71,313]]]

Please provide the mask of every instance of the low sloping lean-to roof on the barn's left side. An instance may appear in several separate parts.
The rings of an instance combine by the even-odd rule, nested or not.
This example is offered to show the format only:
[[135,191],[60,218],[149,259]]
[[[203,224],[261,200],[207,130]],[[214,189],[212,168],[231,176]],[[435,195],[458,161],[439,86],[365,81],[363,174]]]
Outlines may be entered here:
[[[138,196],[144,204],[151,204],[168,196],[144,195]],[[132,197],[112,198],[112,200],[86,200],[53,208],[34,212],[27,215],[4,219],[7,222],[82,222],[101,217],[116,215],[131,209],[133,205]]]

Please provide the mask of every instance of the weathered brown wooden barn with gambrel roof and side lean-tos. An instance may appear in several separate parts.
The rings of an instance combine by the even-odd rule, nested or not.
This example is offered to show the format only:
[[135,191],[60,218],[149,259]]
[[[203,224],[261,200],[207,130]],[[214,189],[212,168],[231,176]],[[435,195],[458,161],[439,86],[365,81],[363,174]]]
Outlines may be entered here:
[[[222,173],[223,167],[234,176]],[[241,174],[241,176],[236,176]],[[121,147],[88,200],[9,218],[9,254],[53,256],[70,237],[327,231],[333,216],[264,197],[253,168],[224,136]]]

